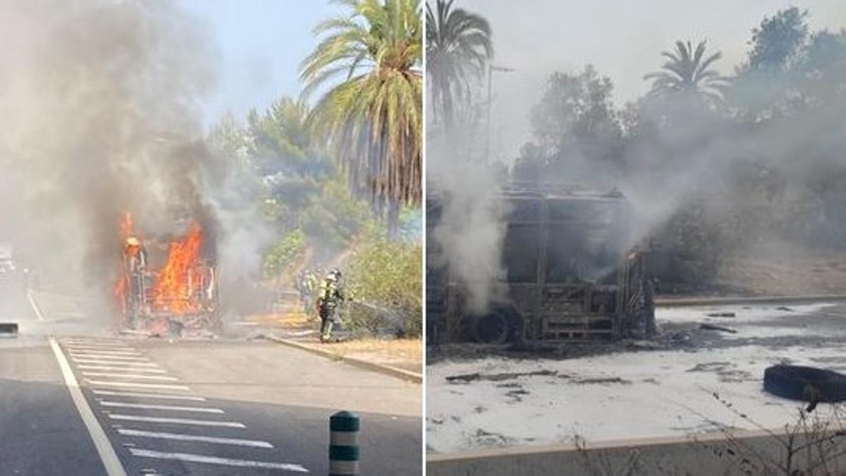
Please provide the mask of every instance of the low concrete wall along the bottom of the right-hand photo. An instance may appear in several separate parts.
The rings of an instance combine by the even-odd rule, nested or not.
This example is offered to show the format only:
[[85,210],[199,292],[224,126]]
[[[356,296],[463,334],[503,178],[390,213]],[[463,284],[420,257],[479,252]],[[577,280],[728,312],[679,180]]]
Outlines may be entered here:
[[[581,476],[585,474],[785,474],[814,467],[814,474],[846,474],[846,436],[799,434],[788,451],[788,436],[764,431],[705,434],[695,439],[620,440],[588,446],[480,451],[427,458],[429,476]],[[821,464],[826,461],[826,464]],[[779,468],[782,467],[782,468]]]

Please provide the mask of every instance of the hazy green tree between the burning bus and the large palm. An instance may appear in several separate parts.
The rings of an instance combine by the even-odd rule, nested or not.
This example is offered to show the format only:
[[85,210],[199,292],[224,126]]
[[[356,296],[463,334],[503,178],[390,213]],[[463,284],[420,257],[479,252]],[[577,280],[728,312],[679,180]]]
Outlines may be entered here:
[[250,111],[245,125],[225,116],[209,136],[215,169],[227,170],[217,185],[221,205],[257,204],[265,230],[272,231],[264,248],[268,275],[296,264],[306,249],[317,259],[331,257],[371,219],[366,203],[314,147],[309,113],[307,103],[281,97],[262,112]]

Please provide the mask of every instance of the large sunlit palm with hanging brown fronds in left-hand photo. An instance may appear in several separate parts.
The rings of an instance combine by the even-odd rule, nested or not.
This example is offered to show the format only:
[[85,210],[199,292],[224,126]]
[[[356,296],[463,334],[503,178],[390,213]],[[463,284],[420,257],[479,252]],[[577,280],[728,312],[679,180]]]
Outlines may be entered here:
[[[423,78],[420,0],[341,0],[349,14],[317,25],[301,65],[304,98],[328,88],[308,117],[350,189],[395,224],[422,195]],[[340,80],[335,80],[340,77]],[[333,81],[335,80],[335,81]]]

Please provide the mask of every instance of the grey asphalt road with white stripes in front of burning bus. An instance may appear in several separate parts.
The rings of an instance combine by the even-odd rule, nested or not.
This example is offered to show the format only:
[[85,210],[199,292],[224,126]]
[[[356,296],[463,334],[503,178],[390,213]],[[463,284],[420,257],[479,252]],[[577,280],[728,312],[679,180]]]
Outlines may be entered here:
[[361,418],[363,474],[422,473],[420,385],[266,340],[117,337],[33,297],[0,317],[20,323],[0,338],[0,474],[107,474],[73,380],[127,474],[326,474],[338,410]]

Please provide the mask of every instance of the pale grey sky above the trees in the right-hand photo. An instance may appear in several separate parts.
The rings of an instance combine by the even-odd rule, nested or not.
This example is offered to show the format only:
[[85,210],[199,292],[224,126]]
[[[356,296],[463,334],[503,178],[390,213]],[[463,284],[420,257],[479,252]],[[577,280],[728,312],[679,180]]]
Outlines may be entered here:
[[515,69],[495,74],[493,83],[492,158],[510,162],[529,139],[530,109],[553,71],[595,65],[614,81],[614,100],[622,106],[649,90],[643,75],[662,63],[659,53],[676,40],[707,40],[709,49],[722,51],[715,67],[728,75],[745,57],[750,29],[765,15],[794,5],[810,9],[811,30],[838,31],[846,19],[846,3],[840,0],[464,0],[454,6],[486,17],[494,64]]

